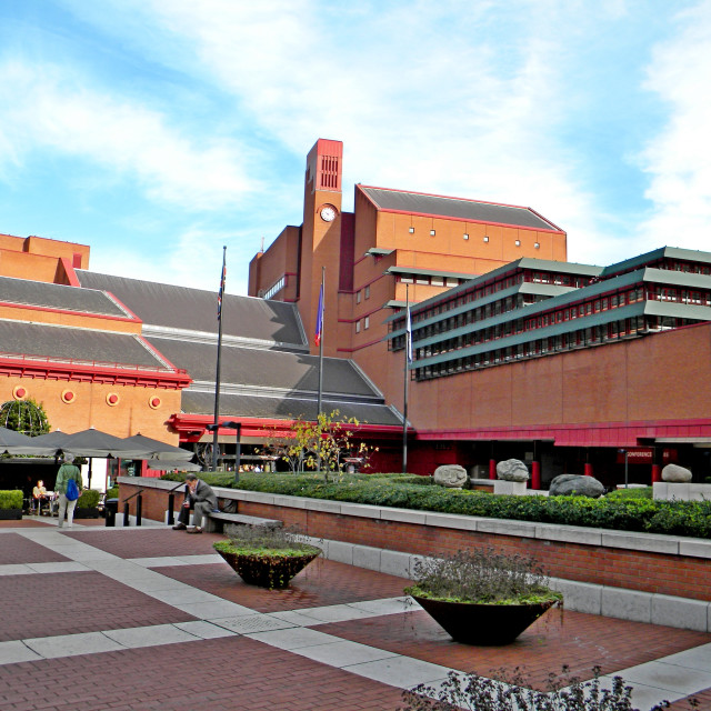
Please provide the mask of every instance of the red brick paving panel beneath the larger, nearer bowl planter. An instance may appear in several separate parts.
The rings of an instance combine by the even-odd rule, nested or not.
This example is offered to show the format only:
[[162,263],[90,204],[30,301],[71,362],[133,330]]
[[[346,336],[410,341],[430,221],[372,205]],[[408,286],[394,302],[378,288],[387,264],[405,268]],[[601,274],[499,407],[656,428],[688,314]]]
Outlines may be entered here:
[[504,647],[459,644],[421,611],[322,624],[318,630],[483,675],[501,667],[525,667],[531,680],[539,684],[551,671],[560,672],[562,664],[568,664],[573,675],[591,679],[595,665],[601,667],[603,674],[610,674],[711,642],[711,634],[702,632],[625,620],[612,622],[570,610],[550,610]]

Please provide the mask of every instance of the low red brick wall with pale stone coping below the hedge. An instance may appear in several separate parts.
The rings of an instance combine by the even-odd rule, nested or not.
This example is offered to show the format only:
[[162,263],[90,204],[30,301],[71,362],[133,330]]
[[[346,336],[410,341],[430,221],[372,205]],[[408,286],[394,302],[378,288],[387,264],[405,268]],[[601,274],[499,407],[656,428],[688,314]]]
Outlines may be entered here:
[[[162,521],[173,482],[121,478],[121,500],[143,491],[143,515]],[[216,489],[239,512],[279,519],[330,541],[415,554],[472,545],[535,557],[554,578],[655,595],[711,600],[711,541],[601,529],[389,509],[252,491]],[[182,492],[176,492],[176,511]],[[134,499],[131,501],[133,514]],[[122,504],[119,512],[122,512]],[[711,610],[711,608],[710,608]]]

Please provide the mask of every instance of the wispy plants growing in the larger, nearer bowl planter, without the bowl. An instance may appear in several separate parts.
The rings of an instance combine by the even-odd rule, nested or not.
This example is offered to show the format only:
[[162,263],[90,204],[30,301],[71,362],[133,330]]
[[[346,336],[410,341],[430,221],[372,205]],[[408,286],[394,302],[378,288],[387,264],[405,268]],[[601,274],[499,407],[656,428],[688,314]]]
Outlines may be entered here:
[[424,598],[483,604],[562,600],[548,587],[548,578],[535,559],[490,547],[420,559],[413,573],[414,585],[405,592]]

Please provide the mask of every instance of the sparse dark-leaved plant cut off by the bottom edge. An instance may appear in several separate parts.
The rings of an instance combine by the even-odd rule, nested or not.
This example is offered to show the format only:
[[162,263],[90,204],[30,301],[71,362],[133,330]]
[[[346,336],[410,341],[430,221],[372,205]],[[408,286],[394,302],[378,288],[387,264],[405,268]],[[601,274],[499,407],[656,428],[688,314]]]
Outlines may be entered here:
[[[610,689],[601,689],[600,668],[593,670],[590,681],[580,681],[568,667],[560,674],[551,672],[544,691],[532,689],[533,682],[517,667],[512,672],[499,669],[491,679],[477,672],[450,672],[438,689],[419,684],[402,692],[403,707],[398,711],[638,711],[632,705],[632,687],[622,677],[614,677]],[[697,699],[689,709],[699,707]],[[650,709],[668,709],[662,701]]]

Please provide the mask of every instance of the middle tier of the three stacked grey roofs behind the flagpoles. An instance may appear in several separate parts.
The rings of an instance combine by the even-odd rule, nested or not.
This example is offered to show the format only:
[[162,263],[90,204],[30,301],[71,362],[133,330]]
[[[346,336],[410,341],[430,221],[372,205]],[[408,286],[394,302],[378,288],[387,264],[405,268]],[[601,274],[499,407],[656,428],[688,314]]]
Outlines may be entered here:
[[[214,382],[214,343],[156,337],[147,340],[177,368],[184,368],[193,380]],[[317,392],[318,365],[317,356],[222,344],[220,375],[224,384]],[[352,361],[341,358],[323,359],[323,391],[351,398],[382,398]]]

